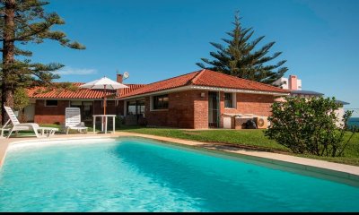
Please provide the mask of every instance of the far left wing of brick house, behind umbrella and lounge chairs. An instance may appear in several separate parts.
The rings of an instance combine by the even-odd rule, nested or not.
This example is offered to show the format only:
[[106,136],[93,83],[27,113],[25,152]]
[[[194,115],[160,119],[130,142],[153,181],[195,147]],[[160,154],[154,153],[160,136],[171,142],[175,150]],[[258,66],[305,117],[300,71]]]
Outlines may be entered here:
[[[120,74],[118,74],[118,82],[122,82]],[[73,84],[78,87],[83,83],[74,82]],[[122,90],[121,94],[118,94],[116,90],[107,90],[107,114],[120,115],[123,112],[123,101],[119,101],[117,97],[143,87],[144,84],[127,84],[127,86],[129,88]],[[76,89],[45,92],[41,90],[44,88],[35,87],[27,90],[31,104],[22,112],[28,122],[63,124],[65,123],[66,107],[80,107],[82,121],[89,125],[92,124],[92,115],[103,114],[103,90]]]

